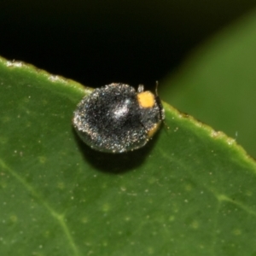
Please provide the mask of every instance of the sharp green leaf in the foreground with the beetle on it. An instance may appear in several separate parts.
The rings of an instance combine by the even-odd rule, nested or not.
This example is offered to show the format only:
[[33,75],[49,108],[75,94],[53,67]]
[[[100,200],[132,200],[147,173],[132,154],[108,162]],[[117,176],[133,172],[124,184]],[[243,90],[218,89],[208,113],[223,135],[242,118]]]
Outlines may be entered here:
[[256,165],[164,104],[142,149],[80,142],[73,81],[0,60],[1,255],[253,255]]

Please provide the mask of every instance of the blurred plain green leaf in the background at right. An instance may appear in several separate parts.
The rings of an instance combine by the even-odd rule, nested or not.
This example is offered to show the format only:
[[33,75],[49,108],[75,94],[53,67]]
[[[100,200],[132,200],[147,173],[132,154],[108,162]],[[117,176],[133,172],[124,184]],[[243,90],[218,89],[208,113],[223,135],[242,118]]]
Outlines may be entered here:
[[[218,32],[160,86],[163,98],[256,157],[256,9]],[[172,86],[171,86],[172,85]]]

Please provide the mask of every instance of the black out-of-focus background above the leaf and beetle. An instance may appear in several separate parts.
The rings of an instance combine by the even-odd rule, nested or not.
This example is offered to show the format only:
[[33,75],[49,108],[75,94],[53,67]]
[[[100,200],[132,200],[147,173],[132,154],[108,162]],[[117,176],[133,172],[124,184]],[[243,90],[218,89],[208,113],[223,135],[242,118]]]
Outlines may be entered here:
[[154,86],[254,0],[1,1],[0,55],[92,87]]

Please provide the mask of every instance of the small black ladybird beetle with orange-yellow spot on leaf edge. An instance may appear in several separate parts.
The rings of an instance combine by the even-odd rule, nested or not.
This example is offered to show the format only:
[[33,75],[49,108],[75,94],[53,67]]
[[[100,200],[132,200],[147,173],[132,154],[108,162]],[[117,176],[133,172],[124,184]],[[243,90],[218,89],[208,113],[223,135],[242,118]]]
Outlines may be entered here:
[[159,129],[165,112],[160,98],[128,84],[108,84],[79,102],[73,125],[79,137],[98,151],[123,153],[142,148]]

